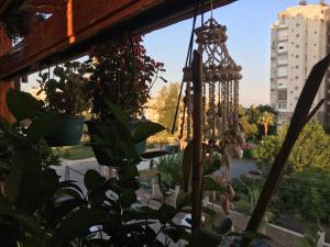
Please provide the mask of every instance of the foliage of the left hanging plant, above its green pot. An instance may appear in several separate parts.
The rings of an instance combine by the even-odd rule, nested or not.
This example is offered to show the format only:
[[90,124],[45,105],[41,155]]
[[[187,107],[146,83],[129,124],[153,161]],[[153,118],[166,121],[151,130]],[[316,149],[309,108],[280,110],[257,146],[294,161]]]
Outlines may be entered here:
[[47,112],[79,115],[90,108],[90,100],[86,93],[87,72],[89,65],[79,61],[64,64],[54,68],[54,77],[48,72],[40,72],[40,93],[45,93],[45,109]]

